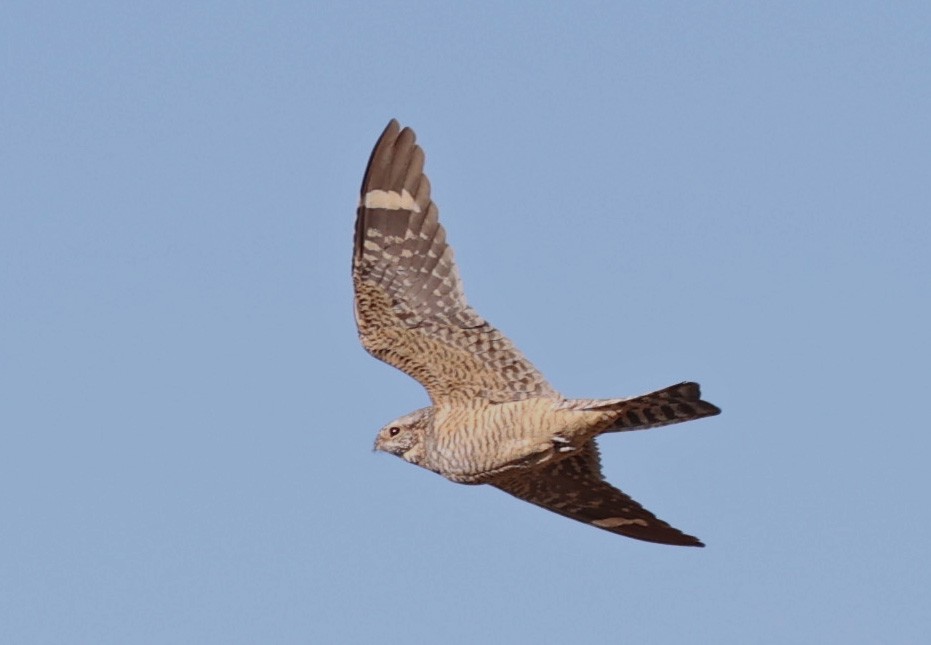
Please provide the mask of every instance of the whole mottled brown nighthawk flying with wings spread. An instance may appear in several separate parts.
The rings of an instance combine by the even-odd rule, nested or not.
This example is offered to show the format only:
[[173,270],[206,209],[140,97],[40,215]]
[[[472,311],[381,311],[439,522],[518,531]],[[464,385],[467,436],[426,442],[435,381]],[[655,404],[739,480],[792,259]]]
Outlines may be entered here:
[[612,533],[704,546],[606,482],[595,438],[720,410],[688,382],[628,398],[560,395],[467,304],[423,167],[413,130],[392,119],[362,180],[352,257],[359,338],[433,404],[384,426],[375,449]]

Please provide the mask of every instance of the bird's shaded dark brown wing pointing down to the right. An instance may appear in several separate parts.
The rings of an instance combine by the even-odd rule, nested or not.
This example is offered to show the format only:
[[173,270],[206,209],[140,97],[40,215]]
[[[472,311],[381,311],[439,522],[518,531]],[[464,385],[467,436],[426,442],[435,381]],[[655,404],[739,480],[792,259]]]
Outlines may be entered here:
[[531,504],[618,535],[660,544],[705,546],[606,482],[594,441],[542,471],[494,485]]

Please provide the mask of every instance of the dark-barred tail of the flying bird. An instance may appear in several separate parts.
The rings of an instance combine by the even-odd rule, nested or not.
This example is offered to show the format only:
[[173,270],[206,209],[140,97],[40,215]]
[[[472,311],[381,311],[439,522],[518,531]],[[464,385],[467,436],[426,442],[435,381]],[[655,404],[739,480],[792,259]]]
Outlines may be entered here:
[[721,410],[701,400],[698,383],[671,387],[627,399],[574,399],[572,409],[611,412],[614,421],[603,432],[644,430],[720,414]]

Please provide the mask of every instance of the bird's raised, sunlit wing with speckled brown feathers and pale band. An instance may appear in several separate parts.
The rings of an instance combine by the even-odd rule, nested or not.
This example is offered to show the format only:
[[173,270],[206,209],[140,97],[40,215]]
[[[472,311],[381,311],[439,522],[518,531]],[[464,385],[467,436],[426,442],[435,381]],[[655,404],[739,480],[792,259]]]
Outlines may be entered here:
[[363,347],[417,379],[434,403],[557,396],[466,303],[423,164],[413,130],[392,119],[372,151],[356,218],[352,273]]

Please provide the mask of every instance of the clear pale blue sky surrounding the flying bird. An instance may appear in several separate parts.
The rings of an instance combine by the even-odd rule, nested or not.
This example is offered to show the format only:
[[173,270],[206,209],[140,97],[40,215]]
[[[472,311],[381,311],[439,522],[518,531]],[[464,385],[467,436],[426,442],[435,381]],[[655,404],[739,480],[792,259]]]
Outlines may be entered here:
[[[0,642],[926,643],[931,5],[5,3]],[[383,454],[372,145],[705,549]]]

